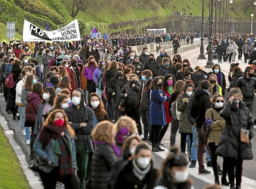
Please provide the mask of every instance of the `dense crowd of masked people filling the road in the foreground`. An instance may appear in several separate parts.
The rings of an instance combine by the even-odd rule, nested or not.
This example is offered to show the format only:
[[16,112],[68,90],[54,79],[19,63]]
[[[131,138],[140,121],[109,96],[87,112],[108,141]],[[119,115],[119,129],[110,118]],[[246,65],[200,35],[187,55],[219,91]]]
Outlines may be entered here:
[[[20,122],[44,187],[188,189],[188,161],[189,168],[198,161],[199,175],[210,173],[206,152],[216,185],[222,175],[222,185],[240,189],[243,160],[253,158],[256,61],[244,72],[230,64],[225,102],[220,64],[206,73],[164,49],[157,58],[147,48],[136,52],[120,36],[0,44],[6,112]],[[164,151],[170,123],[172,148],[158,176],[152,152]]]

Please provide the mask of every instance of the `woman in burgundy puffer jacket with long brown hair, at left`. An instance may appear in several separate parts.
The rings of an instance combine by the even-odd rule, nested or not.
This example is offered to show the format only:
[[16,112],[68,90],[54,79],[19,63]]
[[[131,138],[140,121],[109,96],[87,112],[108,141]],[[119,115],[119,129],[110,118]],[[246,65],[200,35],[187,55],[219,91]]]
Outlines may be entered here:
[[[32,92],[27,95],[27,105],[25,109],[25,127],[31,127],[32,134],[34,133],[35,122],[36,122],[36,114],[37,110],[41,104],[43,95],[43,85],[41,83],[35,83],[32,87]],[[32,139],[32,134],[30,139]],[[30,141],[30,157],[35,153],[33,152],[33,140]]]

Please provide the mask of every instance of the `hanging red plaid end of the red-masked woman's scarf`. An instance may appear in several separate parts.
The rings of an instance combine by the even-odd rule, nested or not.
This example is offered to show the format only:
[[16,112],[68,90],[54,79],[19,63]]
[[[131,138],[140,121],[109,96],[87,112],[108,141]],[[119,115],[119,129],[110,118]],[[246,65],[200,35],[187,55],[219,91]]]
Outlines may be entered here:
[[60,146],[60,158],[59,158],[59,175],[63,177],[65,175],[72,175],[74,169],[72,167],[72,156],[69,151],[68,140],[65,136],[58,137]]

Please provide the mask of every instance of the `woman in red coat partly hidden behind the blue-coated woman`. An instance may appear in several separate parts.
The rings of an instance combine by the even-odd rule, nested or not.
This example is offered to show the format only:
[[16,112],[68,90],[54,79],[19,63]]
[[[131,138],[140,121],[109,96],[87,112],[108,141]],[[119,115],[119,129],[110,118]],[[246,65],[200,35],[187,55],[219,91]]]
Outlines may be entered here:
[[[164,80],[163,80],[163,92],[166,94],[166,96],[168,97],[171,97],[171,94],[173,94],[173,89],[174,89],[174,77],[171,75],[171,74],[166,74],[164,76]],[[166,100],[164,102],[164,109],[165,109],[165,117],[166,117],[166,125],[163,125],[163,129],[161,129],[161,132],[160,132],[160,136],[159,136],[159,142],[160,142],[160,145],[161,145],[161,140],[163,139],[164,137],[164,134],[165,132],[167,131],[168,129],[168,126],[169,126],[169,123],[171,123],[171,116],[170,116],[170,113],[169,113],[169,109],[168,109],[168,106],[169,106],[169,101]]]

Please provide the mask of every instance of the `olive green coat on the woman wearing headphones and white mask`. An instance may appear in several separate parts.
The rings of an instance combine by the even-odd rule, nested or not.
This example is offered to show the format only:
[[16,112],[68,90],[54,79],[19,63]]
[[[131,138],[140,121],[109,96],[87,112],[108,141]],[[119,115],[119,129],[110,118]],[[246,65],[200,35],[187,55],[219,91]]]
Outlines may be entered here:
[[181,112],[179,120],[179,133],[192,133],[192,125],[188,121],[187,116],[187,100],[189,96],[184,92],[178,96],[177,110]]

